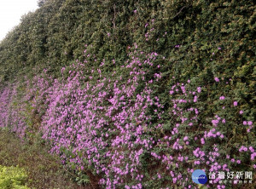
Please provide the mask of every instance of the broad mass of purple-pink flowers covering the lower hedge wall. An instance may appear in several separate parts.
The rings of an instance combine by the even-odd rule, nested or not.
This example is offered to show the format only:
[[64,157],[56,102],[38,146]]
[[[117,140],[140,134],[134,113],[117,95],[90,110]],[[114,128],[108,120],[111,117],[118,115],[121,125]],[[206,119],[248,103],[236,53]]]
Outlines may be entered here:
[[[243,163],[242,158],[226,157],[219,147],[229,140],[223,128],[230,117],[222,111],[238,106],[237,102],[220,96],[219,103],[230,104],[202,122],[201,95],[207,89],[191,79],[166,89],[169,104],[164,105],[158,92],[164,79],[160,62],[165,59],[156,52],[139,51],[136,43],[130,49],[124,63],[110,61],[116,66],[113,72],[103,72],[106,60],[90,67],[95,55],[85,49],[85,60],[61,68],[62,77],[54,79],[44,70],[27,82],[26,95],[20,99],[16,96],[23,88],[3,87],[1,127],[11,126],[22,137],[32,131],[28,120],[39,117],[39,131],[51,144],[50,152],[67,166],[102,175],[100,184],[106,188],[147,188],[148,180],[168,180],[169,188],[191,188],[194,169],[229,171],[230,163]],[[221,83],[218,77],[214,80]],[[253,129],[252,121],[240,124]],[[256,156],[253,146],[238,151],[250,151],[252,161]]]

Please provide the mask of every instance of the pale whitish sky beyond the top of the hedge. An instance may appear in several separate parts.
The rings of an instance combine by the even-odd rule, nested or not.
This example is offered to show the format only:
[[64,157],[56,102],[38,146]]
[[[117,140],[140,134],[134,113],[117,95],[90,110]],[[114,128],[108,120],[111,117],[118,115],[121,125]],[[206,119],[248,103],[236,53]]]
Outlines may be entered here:
[[0,0],[0,41],[19,25],[22,15],[36,9],[38,0]]

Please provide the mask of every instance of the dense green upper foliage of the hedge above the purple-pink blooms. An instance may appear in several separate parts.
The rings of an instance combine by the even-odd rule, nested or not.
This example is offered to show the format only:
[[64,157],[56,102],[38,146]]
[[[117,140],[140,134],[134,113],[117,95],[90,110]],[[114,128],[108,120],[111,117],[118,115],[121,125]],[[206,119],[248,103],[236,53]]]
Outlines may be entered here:
[[[45,67],[58,77],[60,67],[82,59],[84,44],[92,44],[93,66],[105,59],[104,72],[110,72],[112,60],[124,62],[127,47],[137,43],[146,52],[166,56],[166,84],[175,83],[173,76],[177,81],[196,78],[198,85],[213,89],[209,78],[232,78],[232,88],[223,90],[234,93],[253,117],[254,9],[253,1],[46,1],[23,16],[0,44],[0,78],[35,74]],[[177,44],[181,47],[175,48]]]

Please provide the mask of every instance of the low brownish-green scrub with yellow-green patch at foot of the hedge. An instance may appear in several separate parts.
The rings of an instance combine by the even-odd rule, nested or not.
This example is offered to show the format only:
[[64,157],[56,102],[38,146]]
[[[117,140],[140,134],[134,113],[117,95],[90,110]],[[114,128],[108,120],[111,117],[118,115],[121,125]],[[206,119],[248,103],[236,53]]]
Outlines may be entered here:
[[75,184],[77,175],[63,169],[47,149],[41,140],[20,141],[8,129],[0,129],[0,188],[96,188]]

